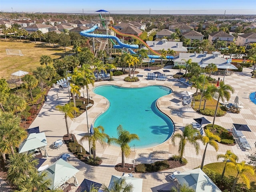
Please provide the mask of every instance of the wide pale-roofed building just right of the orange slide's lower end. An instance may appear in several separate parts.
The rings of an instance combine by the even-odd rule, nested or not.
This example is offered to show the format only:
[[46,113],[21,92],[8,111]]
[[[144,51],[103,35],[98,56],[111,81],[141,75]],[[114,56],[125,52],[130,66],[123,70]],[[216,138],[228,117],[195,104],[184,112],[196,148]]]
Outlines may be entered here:
[[[176,55],[182,53],[182,52],[188,52],[188,49],[183,45],[183,42],[175,42],[175,41],[168,41],[167,39],[162,39],[161,41],[147,41],[146,42],[150,48],[155,50],[156,52],[159,52],[159,50],[174,50],[176,51]],[[146,47],[142,47],[143,49],[148,50]]]

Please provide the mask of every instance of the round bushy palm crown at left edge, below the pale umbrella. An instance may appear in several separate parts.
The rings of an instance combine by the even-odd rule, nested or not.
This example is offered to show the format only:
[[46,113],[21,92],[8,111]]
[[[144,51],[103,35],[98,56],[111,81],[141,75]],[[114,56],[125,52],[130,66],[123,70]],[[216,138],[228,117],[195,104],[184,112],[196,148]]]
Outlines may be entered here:
[[18,112],[22,112],[26,109],[27,103],[24,98],[16,94],[10,94],[8,100],[4,104],[7,111],[13,112],[18,116]]

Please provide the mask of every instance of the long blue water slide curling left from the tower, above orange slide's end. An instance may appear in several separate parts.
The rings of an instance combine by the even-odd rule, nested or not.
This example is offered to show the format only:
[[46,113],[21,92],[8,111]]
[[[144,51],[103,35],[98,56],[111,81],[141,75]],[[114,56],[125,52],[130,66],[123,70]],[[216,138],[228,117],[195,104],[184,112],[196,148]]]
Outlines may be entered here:
[[96,37],[96,38],[108,38],[108,39],[114,39],[116,40],[116,42],[118,42],[118,44],[121,47],[124,48],[130,48],[130,49],[138,49],[139,46],[138,45],[129,45],[129,44],[124,44],[120,41],[120,39],[116,36],[112,36],[112,35],[103,35],[103,34],[94,34],[94,33],[90,33],[93,32],[94,30],[96,30],[98,28],[97,25],[94,25],[92,28],[81,31],[80,35],[84,36],[84,37]]

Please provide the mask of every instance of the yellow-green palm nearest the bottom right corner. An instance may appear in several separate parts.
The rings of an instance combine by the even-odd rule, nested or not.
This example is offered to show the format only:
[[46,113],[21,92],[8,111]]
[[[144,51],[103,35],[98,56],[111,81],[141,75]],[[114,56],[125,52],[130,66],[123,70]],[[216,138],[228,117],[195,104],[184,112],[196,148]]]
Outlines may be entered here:
[[248,179],[248,177],[246,176],[245,173],[250,173],[251,175],[254,175],[253,168],[248,166],[248,165],[246,165],[245,161],[242,161],[240,163],[230,162],[230,164],[232,166],[234,166],[236,168],[236,171],[237,171],[237,175],[236,175],[236,178],[234,180],[234,184],[232,186],[231,192],[234,192],[235,186],[236,186],[236,181],[237,181],[239,176],[241,176],[241,178],[245,181],[246,187],[248,189],[250,189],[250,180]]

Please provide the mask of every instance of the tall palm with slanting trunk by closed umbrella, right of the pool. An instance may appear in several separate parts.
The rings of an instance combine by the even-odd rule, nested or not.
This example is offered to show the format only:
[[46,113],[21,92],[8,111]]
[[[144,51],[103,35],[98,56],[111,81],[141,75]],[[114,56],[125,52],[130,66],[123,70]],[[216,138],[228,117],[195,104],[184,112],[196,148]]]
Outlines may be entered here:
[[224,101],[225,99],[228,101],[230,99],[230,92],[234,93],[234,89],[232,88],[232,86],[225,84],[224,81],[221,81],[218,87],[215,87],[212,89],[212,93],[218,95],[218,101],[215,108],[212,127],[214,127],[214,122],[215,122],[220,98],[222,99],[222,101]]

